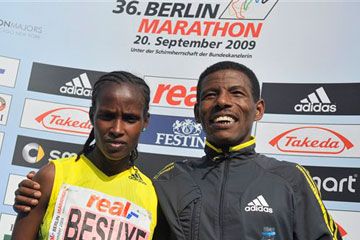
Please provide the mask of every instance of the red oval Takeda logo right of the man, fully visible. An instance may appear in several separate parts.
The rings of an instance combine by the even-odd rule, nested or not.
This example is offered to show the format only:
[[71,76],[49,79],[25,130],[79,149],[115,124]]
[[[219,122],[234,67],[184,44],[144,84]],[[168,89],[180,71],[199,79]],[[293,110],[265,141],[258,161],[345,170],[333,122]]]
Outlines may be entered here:
[[270,140],[281,152],[339,154],[354,145],[338,132],[324,127],[290,129]]

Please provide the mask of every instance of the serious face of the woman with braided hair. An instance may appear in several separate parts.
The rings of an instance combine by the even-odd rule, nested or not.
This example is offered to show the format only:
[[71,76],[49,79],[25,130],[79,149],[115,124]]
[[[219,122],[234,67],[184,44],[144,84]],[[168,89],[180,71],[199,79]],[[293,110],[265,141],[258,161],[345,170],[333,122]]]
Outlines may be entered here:
[[91,114],[96,148],[108,160],[127,158],[136,148],[140,133],[148,124],[144,98],[127,83],[106,83],[100,89]]

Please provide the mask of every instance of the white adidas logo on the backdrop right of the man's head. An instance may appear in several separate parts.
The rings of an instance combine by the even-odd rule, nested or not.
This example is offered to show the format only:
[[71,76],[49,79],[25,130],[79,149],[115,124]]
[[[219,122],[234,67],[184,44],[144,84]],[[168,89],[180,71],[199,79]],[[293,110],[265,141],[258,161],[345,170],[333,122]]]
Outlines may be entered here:
[[323,87],[310,93],[294,107],[296,112],[336,112],[336,105],[331,104]]

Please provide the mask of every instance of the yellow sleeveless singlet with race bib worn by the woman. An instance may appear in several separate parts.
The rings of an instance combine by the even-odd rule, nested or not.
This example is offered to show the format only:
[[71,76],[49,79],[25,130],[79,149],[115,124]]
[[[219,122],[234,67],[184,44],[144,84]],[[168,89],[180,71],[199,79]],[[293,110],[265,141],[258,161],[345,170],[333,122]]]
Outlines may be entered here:
[[108,177],[84,155],[51,162],[55,178],[40,239],[152,239],[157,197],[140,170]]

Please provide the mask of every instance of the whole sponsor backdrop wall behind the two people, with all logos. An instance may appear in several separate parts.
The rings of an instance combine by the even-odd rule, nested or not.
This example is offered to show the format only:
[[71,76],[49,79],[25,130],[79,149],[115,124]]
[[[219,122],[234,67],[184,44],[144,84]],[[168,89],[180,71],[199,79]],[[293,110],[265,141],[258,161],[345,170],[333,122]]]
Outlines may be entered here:
[[[303,164],[344,236],[360,235],[360,33],[340,25],[360,20],[360,3],[25,2],[0,6],[0,239],[10,239],[14,190],[26,173],[82,149],[99,76],[125,70],[149,84],[137,165],[154,176],[202,155],[197,78],[222,60],[259,78],[266,113],[253,129],[257,151]],[[261,195],[249,211],[254,201],[270,211]]]

